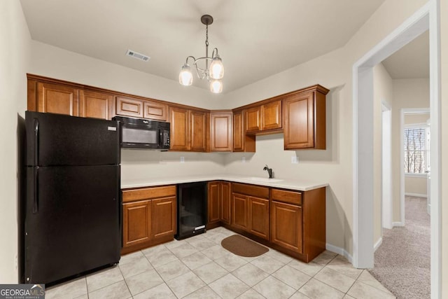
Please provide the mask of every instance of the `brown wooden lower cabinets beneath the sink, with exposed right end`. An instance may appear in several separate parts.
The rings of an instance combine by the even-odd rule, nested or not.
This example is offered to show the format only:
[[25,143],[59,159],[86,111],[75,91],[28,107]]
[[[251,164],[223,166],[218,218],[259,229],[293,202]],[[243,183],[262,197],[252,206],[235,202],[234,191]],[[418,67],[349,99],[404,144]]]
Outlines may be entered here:
[[226,228],[309,263],[325,251],[325,187],[307,191],[232,183]]

